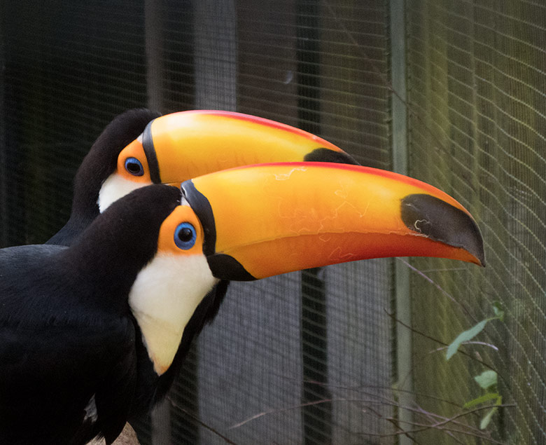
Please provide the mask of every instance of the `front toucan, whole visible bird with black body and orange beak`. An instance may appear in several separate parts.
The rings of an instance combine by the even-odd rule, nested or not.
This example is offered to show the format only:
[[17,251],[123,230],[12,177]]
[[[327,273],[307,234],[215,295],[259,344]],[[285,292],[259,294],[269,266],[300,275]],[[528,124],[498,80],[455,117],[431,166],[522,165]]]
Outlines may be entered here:
[[1,249],[0,443],[111,444],[164,397],[218,280],[411,255],[484,264],[476,222],[446,193],[313,162],[146,186],[70,247]]

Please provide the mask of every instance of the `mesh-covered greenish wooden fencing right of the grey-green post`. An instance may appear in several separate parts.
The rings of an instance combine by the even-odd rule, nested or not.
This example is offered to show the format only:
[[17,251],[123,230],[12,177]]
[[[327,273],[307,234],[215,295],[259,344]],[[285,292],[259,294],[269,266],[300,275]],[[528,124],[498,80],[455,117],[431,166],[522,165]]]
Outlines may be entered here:
[[[491,367],[509,406],[493,416],[485,436],[539,444],[546,437],[546,8],[526,1],[410,1],[408,6],[411,172],[444,188],[450,184],[447,191],[480,222],[488,262],[486,271],[462,268],[449,274],[436,261],[416,262],[457,301],[439,300],[433,287],[414,293],[414,327],[435,339],[414,334],[416,392],[423,394],[418,402],[429,416],[421,421],[439,421],[433,413],[448,418],[459,413],[483,393],[473,377]],[[416,277],[414,284],[421,280]],[[478,339],[498,352],[468,345],[463,347],[468,355],[450,362],[431,352],[493,316],[496,301],[505,320],[489,322]],[[483,443],[479,421],[485,413],[416,437],[426,443]]]

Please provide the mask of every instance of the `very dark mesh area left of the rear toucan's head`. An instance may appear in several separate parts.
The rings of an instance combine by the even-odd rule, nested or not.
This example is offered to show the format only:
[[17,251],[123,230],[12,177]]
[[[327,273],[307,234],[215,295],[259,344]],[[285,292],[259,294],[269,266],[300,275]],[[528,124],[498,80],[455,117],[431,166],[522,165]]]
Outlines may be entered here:
[[76,167],[113,116],[146,101],[144,11],[132,2],[3,4],[6,245],[68,218]]

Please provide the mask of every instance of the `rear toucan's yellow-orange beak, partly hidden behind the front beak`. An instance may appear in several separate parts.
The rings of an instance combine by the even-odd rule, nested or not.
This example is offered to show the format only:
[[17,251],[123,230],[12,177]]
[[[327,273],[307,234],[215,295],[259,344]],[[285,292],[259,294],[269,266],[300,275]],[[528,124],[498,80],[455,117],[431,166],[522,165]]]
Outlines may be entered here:
[[320,160],[356,163],[330,142],[290,125],[230,111],[180,111],[154,119],[141,138],[152,182],[186,179],[239,165]]

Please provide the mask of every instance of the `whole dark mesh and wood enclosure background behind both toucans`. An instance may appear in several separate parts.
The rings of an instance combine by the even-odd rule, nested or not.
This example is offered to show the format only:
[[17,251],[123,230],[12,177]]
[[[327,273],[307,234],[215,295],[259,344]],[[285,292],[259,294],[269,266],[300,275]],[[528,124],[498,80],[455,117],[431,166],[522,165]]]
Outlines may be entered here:
[[484,235],[485,269],[381,259],[233,284],[167,402],[134,425],[142,444],[546,441],[541,1],[0,8],[2,247],[62,226],[80,160],[133,107],[295,125],[438,186]]

